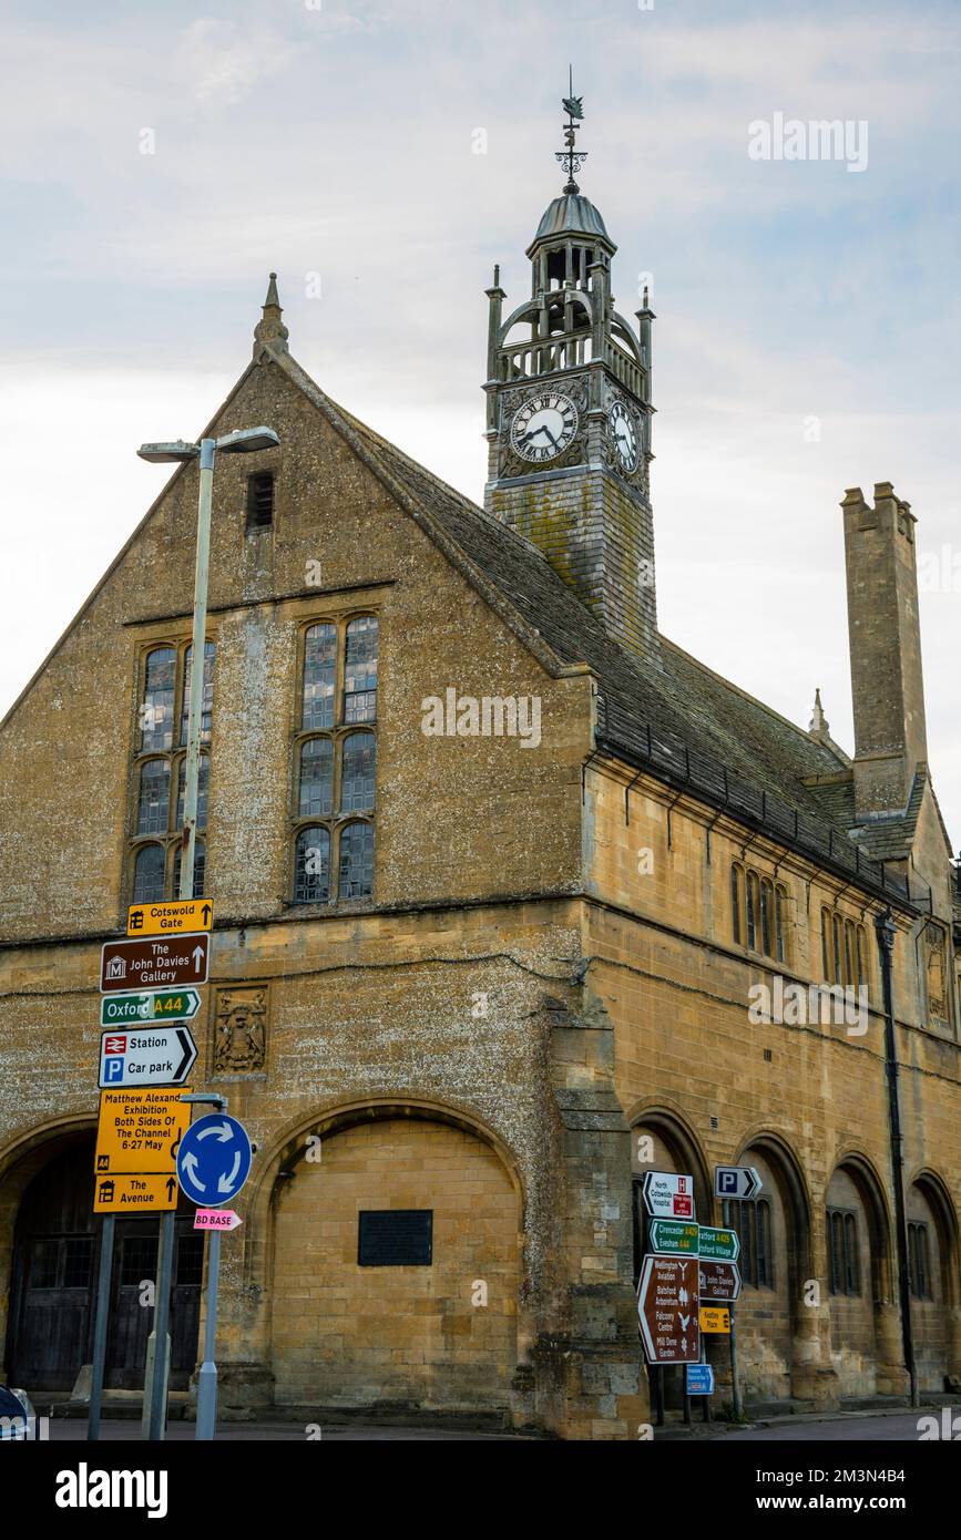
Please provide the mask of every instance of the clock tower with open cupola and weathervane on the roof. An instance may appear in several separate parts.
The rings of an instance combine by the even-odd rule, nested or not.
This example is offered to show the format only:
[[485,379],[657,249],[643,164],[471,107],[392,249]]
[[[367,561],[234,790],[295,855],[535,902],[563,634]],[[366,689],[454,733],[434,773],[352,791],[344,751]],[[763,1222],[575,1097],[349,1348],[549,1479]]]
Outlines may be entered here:
[[564,100],[567,183],[527,248],[531,296],[510,314],[494,268],[485,507],[541,547],[614,641],[659,664],[650,505],[651,322],[614,308],[618,249],[574,172],[581,97]]

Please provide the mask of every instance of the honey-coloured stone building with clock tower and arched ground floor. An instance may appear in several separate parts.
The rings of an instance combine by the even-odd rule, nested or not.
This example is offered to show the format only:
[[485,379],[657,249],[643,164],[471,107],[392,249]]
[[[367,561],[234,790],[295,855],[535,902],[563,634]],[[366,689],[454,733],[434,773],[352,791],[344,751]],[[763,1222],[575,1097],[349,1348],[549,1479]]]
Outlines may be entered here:
[[[915,516],[887,482],[844,497],[853,756],[819,699],[802,730],[662,638],[653,314],[614,308],[614,251],[570,176],[530,299],[505,314],[494,276],[484,510],[308,377],[273,276],[205,430],[280,437],[217,467],[205,658],[193,1089],[257,1144],[219,1344],[242,1415],[638,1437],[641,1181],[690,1173],[719,1221],[735,1161],[764,1181],[732,1215],[748,1406],[904,1395],[902,1292],[921,1388],[961,1375]],[[0,1380],[40,1400],[91,1357],[100,947],[176,893],[196,505],[193,462],[0,727]],[[119,1224],[114,1388],[156,1237]],[[183,1392],[186,1212],[176,1263]]]

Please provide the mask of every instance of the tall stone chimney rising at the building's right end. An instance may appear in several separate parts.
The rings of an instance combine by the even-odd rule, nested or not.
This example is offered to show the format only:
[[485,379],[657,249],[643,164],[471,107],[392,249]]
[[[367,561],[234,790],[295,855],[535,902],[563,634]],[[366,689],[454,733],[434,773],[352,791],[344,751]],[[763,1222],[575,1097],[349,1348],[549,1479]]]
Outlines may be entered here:
[[910,504],[876,482],[873,508],[852,487],[844,510],[847,628],[855,707],[855,812],[902,812],[927,762],[918,570]]

